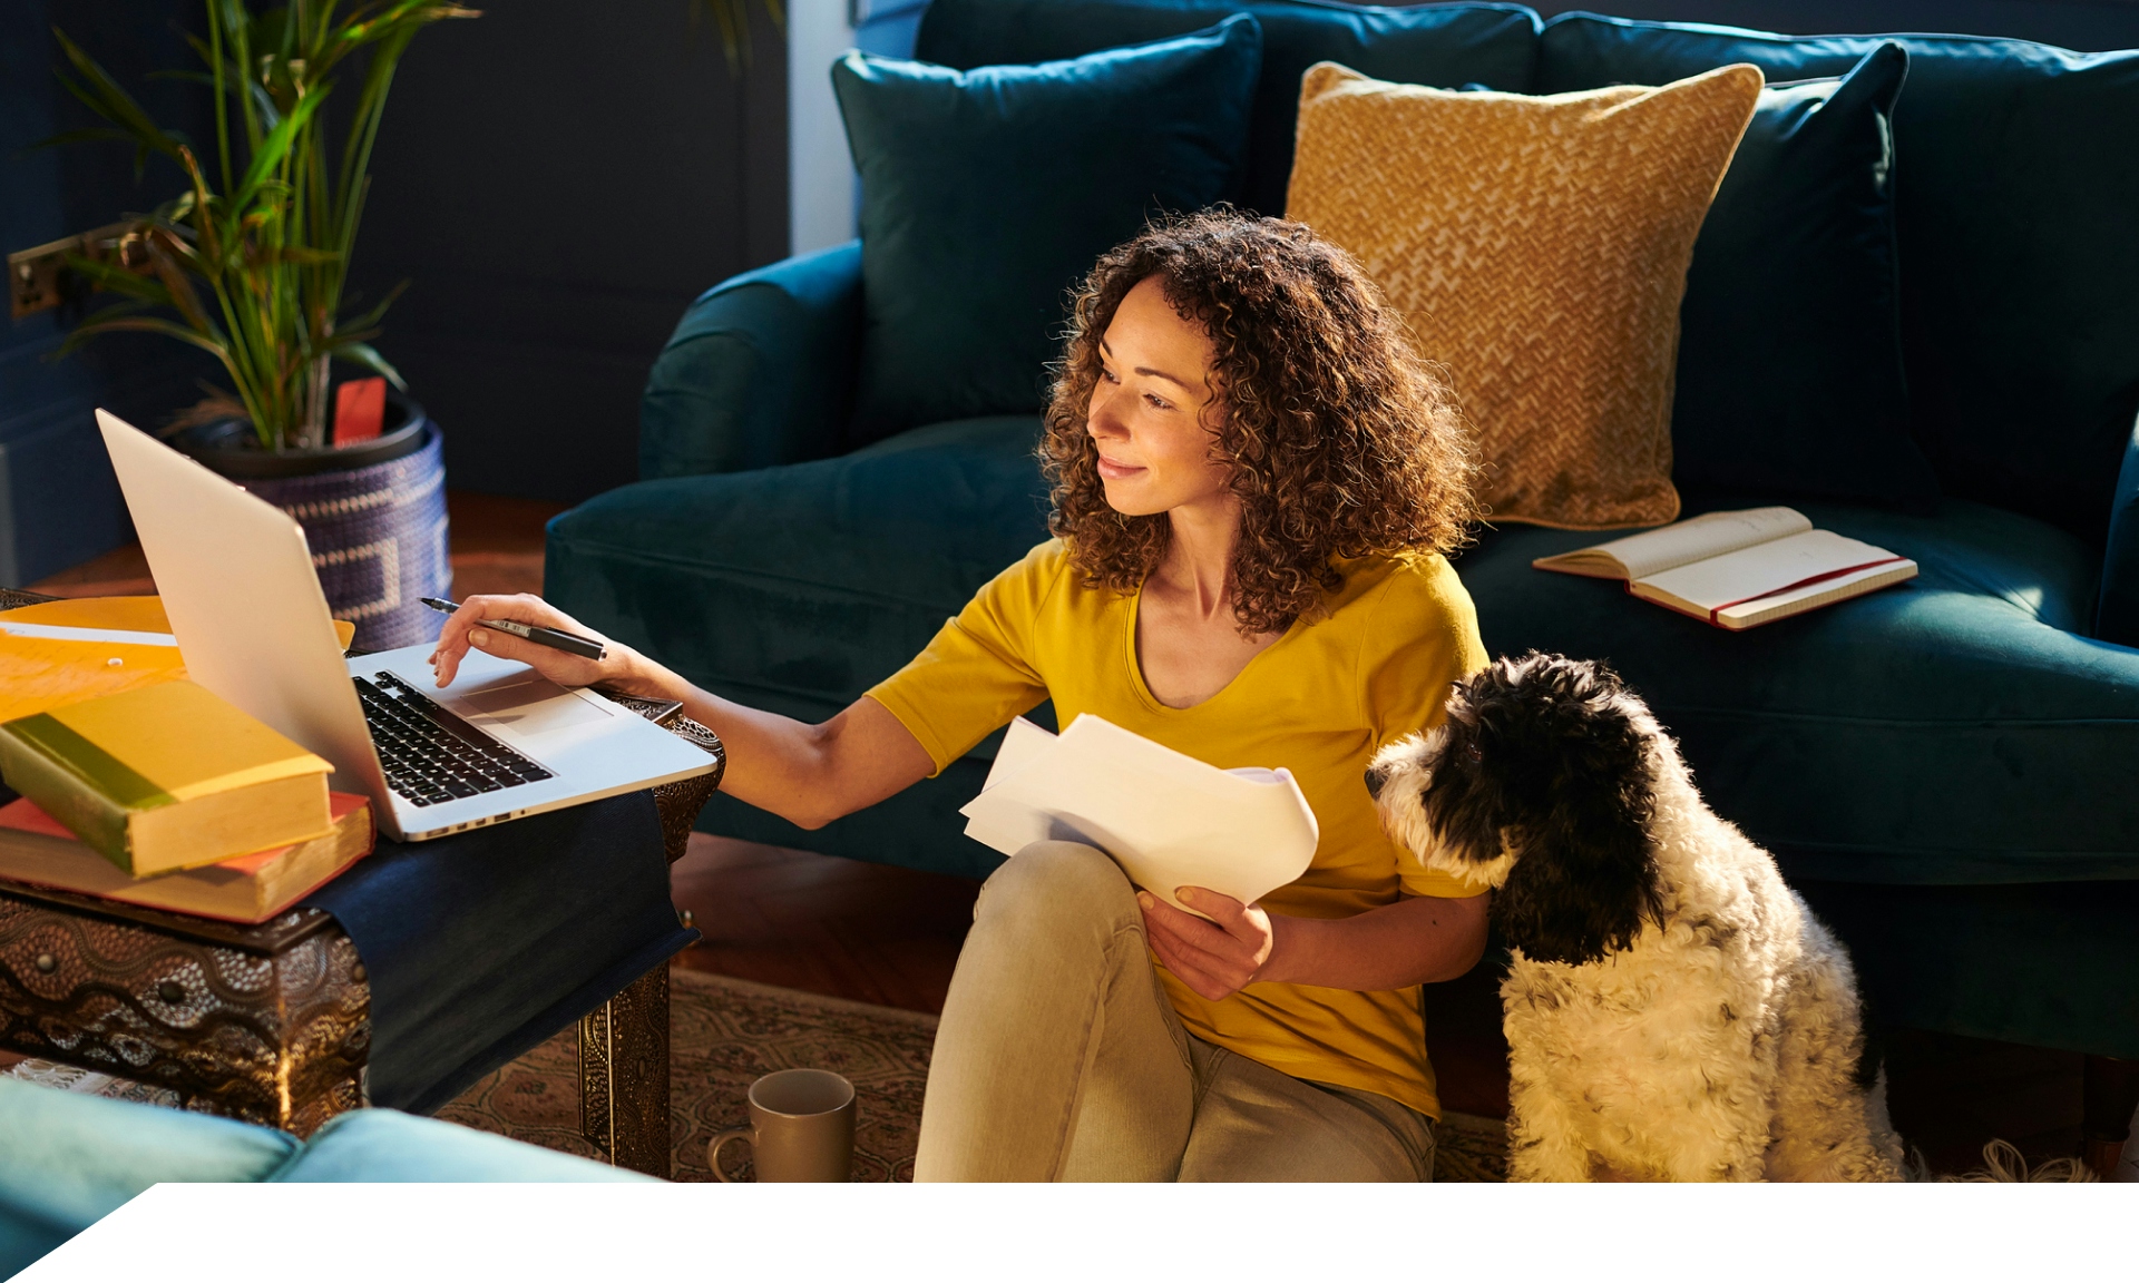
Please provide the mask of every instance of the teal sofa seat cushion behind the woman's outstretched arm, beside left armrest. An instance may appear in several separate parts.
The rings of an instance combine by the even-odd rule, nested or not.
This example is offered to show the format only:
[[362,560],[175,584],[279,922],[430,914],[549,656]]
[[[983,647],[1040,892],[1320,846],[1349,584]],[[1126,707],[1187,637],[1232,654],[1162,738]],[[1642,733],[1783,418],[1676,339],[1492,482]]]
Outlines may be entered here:
[[693,682],[821,721],[1046,539],[1033,415],[640,481],[550,522],[545,594]]

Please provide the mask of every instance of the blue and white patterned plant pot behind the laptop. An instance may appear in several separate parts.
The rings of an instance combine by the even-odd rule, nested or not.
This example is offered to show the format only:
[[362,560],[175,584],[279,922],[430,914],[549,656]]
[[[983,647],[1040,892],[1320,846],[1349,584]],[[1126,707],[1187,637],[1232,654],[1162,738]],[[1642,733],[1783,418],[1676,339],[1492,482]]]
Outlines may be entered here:
[[445,616],[417,601],[447,597],[445,436],[413,400],[387,393],[387,432],[347,449],[265,451],[246,421],[171,438],[207,468],[304,526],[327,609],[357,627],[353,646],[434,642]]

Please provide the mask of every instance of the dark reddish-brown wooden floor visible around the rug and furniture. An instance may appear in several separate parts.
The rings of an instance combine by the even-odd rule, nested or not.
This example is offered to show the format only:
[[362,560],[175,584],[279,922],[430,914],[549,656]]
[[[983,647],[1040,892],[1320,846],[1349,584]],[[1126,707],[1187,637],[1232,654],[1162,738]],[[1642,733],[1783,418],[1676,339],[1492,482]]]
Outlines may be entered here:
[[[447,492],[453,594],[539,592],[543,522],[556,505]],[[152,592],[139,547],[36,584],[62,597]],[[674,868],[676,907],[706,934],[680,967],[838,999],[941,1011],[978,881],[695,834]],[[1427,988],[1427,1041],[1442,1099],[1465,1114],[1508,1110],[1508,1046],[1491,969]],[[1979,1165],[2011,1140],[2030,1161],[2079,1146],[2079,1056],[1904,1033],[1887,1048],[1895,1127],[1938,1172]],[[2124,1150],[2139,1180],[2139,1138]]]

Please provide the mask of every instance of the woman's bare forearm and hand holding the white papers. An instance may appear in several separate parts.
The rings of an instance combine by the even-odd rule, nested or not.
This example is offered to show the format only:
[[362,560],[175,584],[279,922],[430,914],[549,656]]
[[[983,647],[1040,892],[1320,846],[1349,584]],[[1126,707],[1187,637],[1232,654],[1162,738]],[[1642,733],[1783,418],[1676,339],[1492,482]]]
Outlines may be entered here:
[[1149,892],[1144,937],[1159,962],[1213,1003],[1260,981],[1390,990],[1455,979],[1484,954],[1493,896],[1405,896],[1352,917],[1283,917],[1202,887],[1174,892],[1211,922]]

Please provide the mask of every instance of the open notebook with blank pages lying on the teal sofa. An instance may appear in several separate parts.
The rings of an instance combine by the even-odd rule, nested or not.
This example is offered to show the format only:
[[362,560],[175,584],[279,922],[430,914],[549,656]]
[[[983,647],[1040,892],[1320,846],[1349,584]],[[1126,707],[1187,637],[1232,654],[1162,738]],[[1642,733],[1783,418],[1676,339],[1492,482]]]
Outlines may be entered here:
[[1786,507],[1707,513],[1529,565],[1624,579],[1634,597],[1733,631],[1917,577],[1906,556],[1814,530]]

